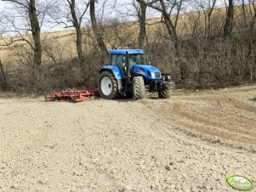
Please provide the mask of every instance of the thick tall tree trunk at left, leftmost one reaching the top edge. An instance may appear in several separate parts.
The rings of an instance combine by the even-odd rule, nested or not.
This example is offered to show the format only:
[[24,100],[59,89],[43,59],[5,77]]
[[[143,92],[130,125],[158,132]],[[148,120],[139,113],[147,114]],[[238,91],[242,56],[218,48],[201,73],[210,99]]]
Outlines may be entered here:
[[34,67],[42,65],[41,29],[37,17],[35,0],[30,0],[28,13],[31,23],[32,37],[34,40]]

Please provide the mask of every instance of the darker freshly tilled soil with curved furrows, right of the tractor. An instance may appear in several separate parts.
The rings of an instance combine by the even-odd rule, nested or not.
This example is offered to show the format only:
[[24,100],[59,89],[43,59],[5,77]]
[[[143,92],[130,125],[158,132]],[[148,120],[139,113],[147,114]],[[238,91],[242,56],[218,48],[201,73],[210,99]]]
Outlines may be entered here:
[[253,88],[222,93],[174,95],[164,102],[145,99],[141,103],[175,127],[191,135],[221,138],[234,144],[256,144],[256,103]]

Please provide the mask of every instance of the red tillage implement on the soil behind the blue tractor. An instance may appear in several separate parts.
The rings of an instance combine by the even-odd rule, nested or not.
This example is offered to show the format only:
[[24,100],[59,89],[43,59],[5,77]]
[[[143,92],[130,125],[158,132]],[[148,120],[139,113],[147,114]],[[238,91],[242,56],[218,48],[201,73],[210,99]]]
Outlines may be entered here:
[[84,88],[82,90],[77,90],[75,88],[67,89],[62,92],[55,92],[45,96],[46,101],[54,100],[65,100],[71,102],[79,102],[89,100],[92,96],[99,96],[99,91],[96,89]]

